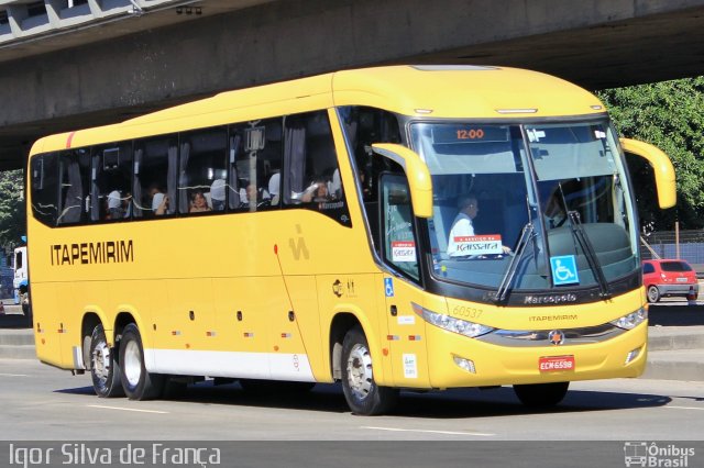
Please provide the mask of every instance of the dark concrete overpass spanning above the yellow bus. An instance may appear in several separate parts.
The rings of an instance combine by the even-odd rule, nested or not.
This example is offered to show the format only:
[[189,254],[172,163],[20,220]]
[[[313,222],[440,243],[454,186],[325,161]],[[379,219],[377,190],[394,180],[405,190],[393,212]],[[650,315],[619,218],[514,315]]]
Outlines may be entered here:
[[43,134],[389,63],[587,89],[704,75],[704,0],[0,0],[0,169]]

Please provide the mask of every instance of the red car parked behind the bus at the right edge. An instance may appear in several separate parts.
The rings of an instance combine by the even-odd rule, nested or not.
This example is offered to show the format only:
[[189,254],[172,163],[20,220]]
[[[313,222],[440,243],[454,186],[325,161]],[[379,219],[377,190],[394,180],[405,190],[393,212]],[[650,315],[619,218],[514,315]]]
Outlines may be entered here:
[[700,293],[696,274],[684,260],[644,260],[642,283],[648,291],[648,302],[669,296],[695,300]]

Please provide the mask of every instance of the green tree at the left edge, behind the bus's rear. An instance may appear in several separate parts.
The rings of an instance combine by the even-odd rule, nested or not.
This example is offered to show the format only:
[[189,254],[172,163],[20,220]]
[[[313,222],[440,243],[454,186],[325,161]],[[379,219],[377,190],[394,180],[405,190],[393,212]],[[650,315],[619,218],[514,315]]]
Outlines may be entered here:
[[22,170],[0,171],[0,246],[18,245],[26,234]]

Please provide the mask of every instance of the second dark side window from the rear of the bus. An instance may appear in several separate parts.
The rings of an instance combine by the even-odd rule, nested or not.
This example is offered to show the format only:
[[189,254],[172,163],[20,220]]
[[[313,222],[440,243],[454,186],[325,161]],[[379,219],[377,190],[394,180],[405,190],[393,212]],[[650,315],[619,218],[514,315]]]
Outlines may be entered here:
[[58,224],[76,224],[88,219],[90,156],[86,148],[59,153],[61,194]]

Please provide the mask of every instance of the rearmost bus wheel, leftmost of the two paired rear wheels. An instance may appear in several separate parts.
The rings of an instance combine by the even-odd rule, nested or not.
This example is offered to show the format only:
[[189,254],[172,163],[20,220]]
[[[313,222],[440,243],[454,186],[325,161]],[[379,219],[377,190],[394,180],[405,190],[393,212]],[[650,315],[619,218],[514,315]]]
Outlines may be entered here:
[[96,325],[90,337],[90,378],[100,398],[124,397],[120,382],[120,366],[110,349],[102,325]]

